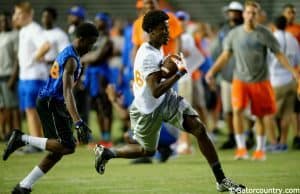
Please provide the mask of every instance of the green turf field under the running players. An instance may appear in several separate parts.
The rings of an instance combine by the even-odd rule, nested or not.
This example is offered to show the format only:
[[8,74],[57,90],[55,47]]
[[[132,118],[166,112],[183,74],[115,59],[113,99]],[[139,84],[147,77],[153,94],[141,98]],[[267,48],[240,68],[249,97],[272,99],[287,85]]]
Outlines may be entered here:
[[[0,145],[1,151],[4,144]],[[9,193],[44,154],[13,154],[0,162],[0,193]],[[264,162],[233,161],[230,151],[220,152],[228,176],[249,188],[300,188],[300,152],[268,155]],[[94,170],[92,150],[79,147],[65,157],[34,187],[37,194],[213,194],[215,181],[202,155],[173,158],[165,164],[131,165],[128,160],[108,163],[104,175]]]

